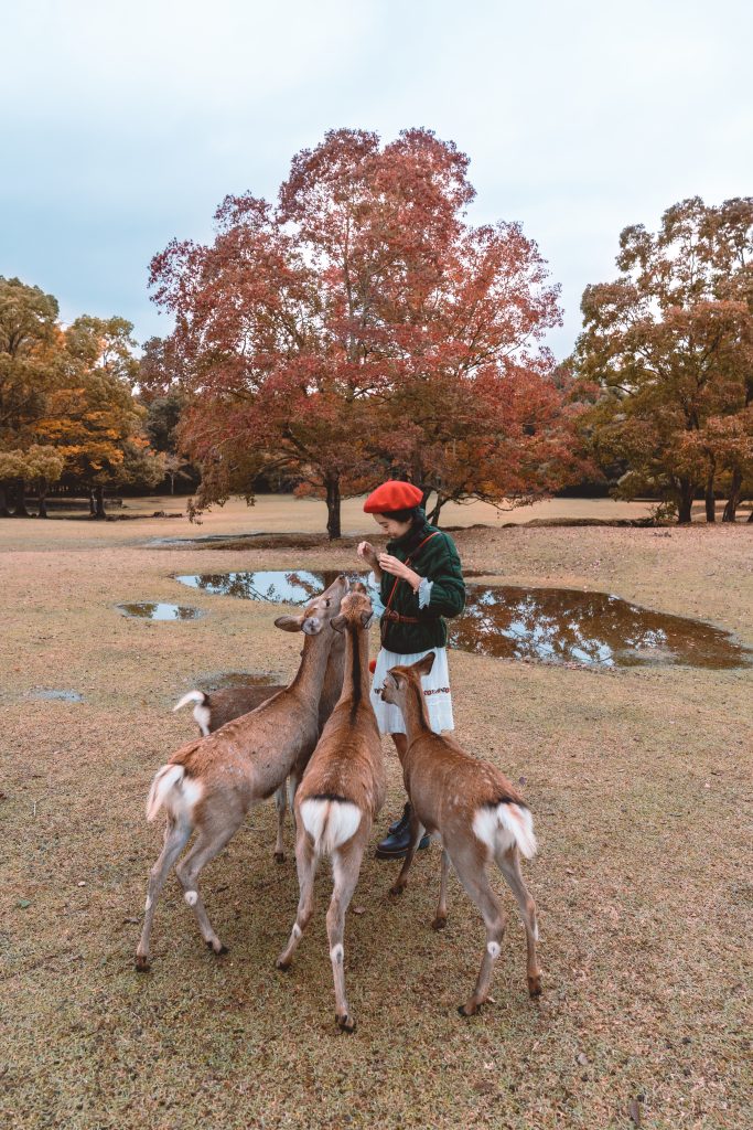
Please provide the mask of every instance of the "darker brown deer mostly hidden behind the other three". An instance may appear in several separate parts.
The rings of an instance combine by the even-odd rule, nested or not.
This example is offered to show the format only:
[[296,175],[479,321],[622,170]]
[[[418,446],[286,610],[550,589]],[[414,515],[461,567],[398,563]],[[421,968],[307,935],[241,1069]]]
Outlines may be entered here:
[[[342,690],[342,673],[345,660],[345,641],[342,633],[336,633],[330,645],[330,655],[324,672],[324,686],[319,696],[318,729],[319,736],[324,723],[334,710]],[[233,722],[243,714],[256,710],[262,703],[286,689],[284,684],[269,684],[261,687],[227,687],[220,690],[189,690],[175,704],[173,711],[178,711],[189,703],[194,703],[193,716],[203,737],[208,738],[214,730],[221,729],[227,722]],[[298,781],[291,776],[288,789],[284,783],[274,793],[274,805],[278,812],[277,840],[274,843],[274,860],[284,863],[284,814],[288,802],[292,809],[292,798]]]

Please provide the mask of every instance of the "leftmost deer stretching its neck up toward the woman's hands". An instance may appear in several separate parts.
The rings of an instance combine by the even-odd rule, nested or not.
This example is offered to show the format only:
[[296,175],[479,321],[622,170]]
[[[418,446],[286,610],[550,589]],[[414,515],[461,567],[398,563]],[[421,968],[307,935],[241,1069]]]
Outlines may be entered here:
[[[193,909],[199,930],[214,954],[227,953],[214,932],[199,892],[202,869],[229,843],[248,809],[271,797],[288,776],[297,780],[318,740],[318,710],[330,647],[330,624],[340,614],[348,579],[333,584],[299,616],[280,616],[275,627],[303,632],[298,671],[284,690],[249,714],[228,722],[209,737],[178,749],[155,775],[147,801],[147,819],[167,812],[165,845],[149,872],[143,928],[135,967],[150,965],[149,941],[159,893],[173,867]],[[196,838],[178,862],[189,840]]]

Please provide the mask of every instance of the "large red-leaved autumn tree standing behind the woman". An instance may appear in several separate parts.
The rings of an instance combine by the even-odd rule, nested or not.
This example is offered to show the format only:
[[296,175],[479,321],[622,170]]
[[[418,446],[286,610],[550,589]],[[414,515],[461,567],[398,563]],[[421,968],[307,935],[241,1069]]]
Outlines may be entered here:
[[[525,451],[525,489],[542,488],[534,447],[557,431],[557,389],[534,346],[555,293],[517,226],[467,225],[467,164],[428,130],[385,146],[332,131],[294,158],[277,207],[228,198],[212,245],[175,241],[155,258],[155,299],[176,328],[152,362],[190,392],[200,503],[287,471],[326,498],[338,537],[342,495],[399,466],[441,501],[501,497],[506,458],[522,479]],[[532,385],[550,407],[524,421]]]

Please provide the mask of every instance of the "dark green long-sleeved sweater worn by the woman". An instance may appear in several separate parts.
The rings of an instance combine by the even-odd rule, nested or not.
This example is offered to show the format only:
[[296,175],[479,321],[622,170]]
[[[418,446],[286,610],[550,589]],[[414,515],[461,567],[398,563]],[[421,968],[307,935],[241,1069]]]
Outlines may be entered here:
[[[437,537],[431,538],[412,555],[411,547],[428,538],[430,533],[437,533]],[[413,592],[408,581],[397,581],[389,608],[401,616],[414,616],[419,623],[401,624],[383,620],[385,628],[383,646],[399,655],[444,647],[447,643],[445,616],[457,616],[465,607],[465,582],[455,542],[448,533],[437,530],[427,522],[420,531],[409,530],[402,538],[387,542],[387,553],[401,562],[410,557],[410,568],[419,576],[426,576],[432,585],[429,603],[424,608],[419,608],[418,593]],[[385,607],[395,580],[391,573],[382,574],[379,596]]]

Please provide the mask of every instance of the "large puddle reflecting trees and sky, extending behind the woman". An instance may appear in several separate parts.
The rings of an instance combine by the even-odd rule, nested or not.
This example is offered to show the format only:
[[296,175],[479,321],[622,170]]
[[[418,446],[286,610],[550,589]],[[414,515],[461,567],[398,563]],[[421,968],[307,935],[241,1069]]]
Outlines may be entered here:
[[[304,605],[336,576],[335,571],[298,570],[201,573],[176,581],[245,600]],[[479,655],[595,667],[753,663],[752,650],[711,624],[577,589],[470,583],[465,611],[449,621],[449,646]]]

